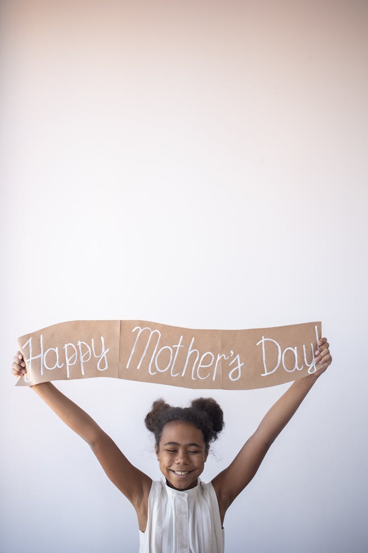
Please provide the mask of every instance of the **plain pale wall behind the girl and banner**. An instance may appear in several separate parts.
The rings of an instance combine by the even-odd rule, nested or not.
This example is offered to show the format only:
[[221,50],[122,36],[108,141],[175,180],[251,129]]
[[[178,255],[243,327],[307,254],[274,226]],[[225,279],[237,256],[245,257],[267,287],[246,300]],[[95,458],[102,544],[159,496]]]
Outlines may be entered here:
[[[76,319],[322,320],[318,379],[225,519],[227,553],[367,550],[365,1],[39,2],[2,10],[2,553],[134,552],[134,510],[30,389],[17,337]],[[152,401],[58,387],[159,478]],[[289,387],[212,393],[227,466]]]

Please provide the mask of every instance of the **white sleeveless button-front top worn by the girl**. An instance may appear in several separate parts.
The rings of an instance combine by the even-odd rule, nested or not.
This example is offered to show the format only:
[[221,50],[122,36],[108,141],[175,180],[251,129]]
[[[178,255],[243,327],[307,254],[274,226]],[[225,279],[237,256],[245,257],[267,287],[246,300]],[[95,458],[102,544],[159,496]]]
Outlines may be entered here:
[[223,553],[224,531],[211,482],[179,491],[152,481],[140,553]]

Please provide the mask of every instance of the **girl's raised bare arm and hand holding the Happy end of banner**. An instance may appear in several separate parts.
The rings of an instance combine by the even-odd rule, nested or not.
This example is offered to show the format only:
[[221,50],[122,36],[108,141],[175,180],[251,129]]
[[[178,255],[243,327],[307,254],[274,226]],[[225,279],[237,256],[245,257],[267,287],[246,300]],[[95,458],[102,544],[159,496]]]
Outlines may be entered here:
[[[20,377],[24,372],[23,356],[18,351],[14,357],[12,373]],[[130,500],[137,513],[144,511],[145,502],[148,502],[150,493],[151,478],[134,467],[97,422],[55,388],[51,382],[35,384],[30,388],[65,424],[87,442],[111,482]]]

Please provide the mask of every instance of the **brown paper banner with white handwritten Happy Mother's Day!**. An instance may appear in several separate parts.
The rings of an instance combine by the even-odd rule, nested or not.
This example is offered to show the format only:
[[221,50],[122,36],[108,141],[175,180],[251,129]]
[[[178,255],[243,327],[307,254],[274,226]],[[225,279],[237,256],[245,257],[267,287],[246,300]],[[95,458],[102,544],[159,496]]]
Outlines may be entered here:
[[71,321],[18,338],[17,385],[112,377],[183,388],[248,390],[321,367],[321,322],[250,330],[193,330],[148,321]]

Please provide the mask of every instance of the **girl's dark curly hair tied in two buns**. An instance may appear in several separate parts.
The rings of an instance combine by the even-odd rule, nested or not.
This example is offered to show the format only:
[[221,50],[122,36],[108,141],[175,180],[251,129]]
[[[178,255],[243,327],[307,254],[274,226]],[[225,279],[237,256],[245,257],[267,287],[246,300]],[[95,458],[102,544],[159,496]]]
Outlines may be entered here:
[[217,440],[217,435],[225,425],[223,411],[213,398],[193,399],[190,407],[173,407],[163,399],[157,399],[145,418],[146,427],[153,432],[157,447],[164,426],[173,421],[189,422],[201,430],[206,451],[210,447],[210,442]]

